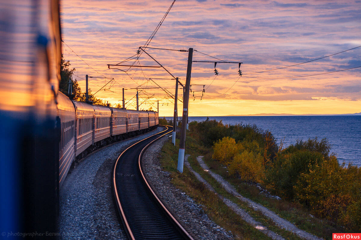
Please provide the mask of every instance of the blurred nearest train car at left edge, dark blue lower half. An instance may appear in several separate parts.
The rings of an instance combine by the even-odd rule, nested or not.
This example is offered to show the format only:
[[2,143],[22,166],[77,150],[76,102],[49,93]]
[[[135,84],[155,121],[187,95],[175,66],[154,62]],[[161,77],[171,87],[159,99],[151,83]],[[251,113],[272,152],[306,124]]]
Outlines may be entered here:
[[60,62],[58,1],[1,1],[0,230],[6,239],[56,232]]

